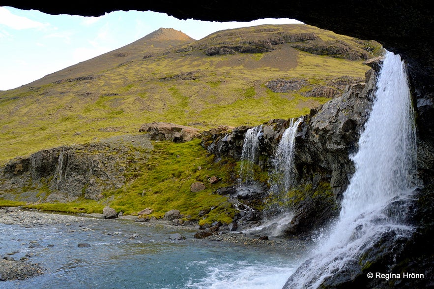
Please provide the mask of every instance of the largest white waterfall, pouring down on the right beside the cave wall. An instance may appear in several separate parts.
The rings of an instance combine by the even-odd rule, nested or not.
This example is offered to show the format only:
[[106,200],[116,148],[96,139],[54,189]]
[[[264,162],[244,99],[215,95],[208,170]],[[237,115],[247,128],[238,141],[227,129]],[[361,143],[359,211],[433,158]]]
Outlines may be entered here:
[[397,213],[405,211],[405,206],[394,211],[390,205],[408,199],[415,187],[415,152],[405,65],[399,55],[386,52],[372,111],[360,135],[359,150],[351,157],[355,173],[344,193],[339,219],[285,289],[318,288],[346,265],[357,263],[381,234],[393,231],[399,236],[412,231]]

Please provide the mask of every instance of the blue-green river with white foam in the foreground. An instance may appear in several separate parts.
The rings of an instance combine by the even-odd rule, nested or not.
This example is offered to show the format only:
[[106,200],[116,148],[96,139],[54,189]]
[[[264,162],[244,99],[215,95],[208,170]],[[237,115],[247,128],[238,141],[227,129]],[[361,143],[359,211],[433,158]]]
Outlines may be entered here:
[[[27,280],[2,281],[0,288],[281,289],[303,258],[272,246],[195,239],[195,231],[181,227],[82,220],[42,227],[0,224],[1,256],[30,255],[29,261],[45,269]],[[176,232],[186,239],[171,240]]]

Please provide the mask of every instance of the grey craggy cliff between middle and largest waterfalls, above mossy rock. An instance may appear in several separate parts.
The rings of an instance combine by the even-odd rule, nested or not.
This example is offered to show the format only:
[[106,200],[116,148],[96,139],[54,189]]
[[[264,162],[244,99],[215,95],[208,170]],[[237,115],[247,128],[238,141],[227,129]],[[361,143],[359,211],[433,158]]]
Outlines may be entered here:
[[375,71],[366,83],[351,85],[339,97],[312,110],[295,141],[295,166],[300,184],[330,183],[340,199],[354,165],[349,155],[357,151],[360,131],[367,120],[375,90]]

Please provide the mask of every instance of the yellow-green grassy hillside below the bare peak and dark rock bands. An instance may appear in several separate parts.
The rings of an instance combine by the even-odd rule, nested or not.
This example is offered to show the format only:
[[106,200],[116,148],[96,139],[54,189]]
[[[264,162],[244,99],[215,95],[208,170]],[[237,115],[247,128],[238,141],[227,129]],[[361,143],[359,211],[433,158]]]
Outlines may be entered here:
[[[352,39],[305,25],[289,29]],[[265,82],[361,78],[368,69],[362,61],[299,52],[287,44],[275,48],[226,56],[171,52],[92,73],[90,80],[64,81],[61,75],[63,82],[2,92],[0,162],[47,147],[136,132],[153,121],[209,128],[297,117],[327,99],[275,94]]]

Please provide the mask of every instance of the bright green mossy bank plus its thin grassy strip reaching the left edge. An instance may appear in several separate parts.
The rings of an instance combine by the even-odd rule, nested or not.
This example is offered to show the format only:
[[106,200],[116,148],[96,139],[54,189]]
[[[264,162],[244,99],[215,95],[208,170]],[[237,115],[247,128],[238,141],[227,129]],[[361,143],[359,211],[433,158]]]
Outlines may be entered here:
[[[127,215],[137,215],[139,211],[150,207],[154,210],[152,216],[157,218],[177,209],[185,220],[200,221],[201,224],[232,221],[236,210],[227,197],[215,191],[233,184],[238,169],[235,161],[225,159],[214,162],[214,156],[203,149],[199,139],[186,143],[156,141],[153,145],[153,150],[148,152],[149,158],[131,156],[131,165],[124,174],[127,184],[120,189],[103,192],[104,197],[100,200],[81,196],[72,202],[44,202],[43,196],[53,193],[44,179],[39,188],[29,181],[20,190],[21,193],[39,191],[38,195],[42,197],[40,202],[30,204],[2,199],[0,206],[23,206],[67,213],[102,213],[102,209],[110,205],[117,212],[122,211]],[[211,184],[211,176],[216,176],[219,182]],[[203,183],[205,189],[192,192],[190,186],[195,182]],[[16,192],[17,195],[20,192]],[[209,213],[199,217],[201,210]]]

